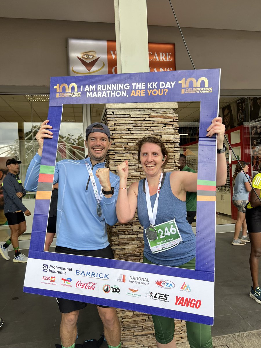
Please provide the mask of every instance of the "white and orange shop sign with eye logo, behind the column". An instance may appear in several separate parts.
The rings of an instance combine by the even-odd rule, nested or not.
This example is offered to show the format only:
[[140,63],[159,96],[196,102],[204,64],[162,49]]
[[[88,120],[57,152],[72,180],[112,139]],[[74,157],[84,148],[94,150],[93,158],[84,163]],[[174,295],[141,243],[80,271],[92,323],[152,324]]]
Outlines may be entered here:
[[[174,44],[149,43],[148,48],[150,71],[176,70]],[[68,56],[70,76],[117,74],[116,41],[68,39]]]

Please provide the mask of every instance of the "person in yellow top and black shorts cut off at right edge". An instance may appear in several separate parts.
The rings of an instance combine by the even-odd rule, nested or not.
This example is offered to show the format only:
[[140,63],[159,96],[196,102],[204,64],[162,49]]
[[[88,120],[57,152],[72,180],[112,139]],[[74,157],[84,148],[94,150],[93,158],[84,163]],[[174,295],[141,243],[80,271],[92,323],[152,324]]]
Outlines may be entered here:
[[251,243],[249,264],[253,282],[249,296],[257,303],[261,303],[261,289],[258,283],[258,264],[261,255],[261,173],[255,175],[253,188],[257,196],[252,190],[250,203],[246,207],[246,224]]

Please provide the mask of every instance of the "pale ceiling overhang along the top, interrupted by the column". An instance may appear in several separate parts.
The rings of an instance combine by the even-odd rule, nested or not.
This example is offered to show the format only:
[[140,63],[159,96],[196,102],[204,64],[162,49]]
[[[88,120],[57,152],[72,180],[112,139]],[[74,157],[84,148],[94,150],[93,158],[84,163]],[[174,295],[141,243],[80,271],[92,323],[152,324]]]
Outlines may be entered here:
[[[260,0],[171,0],[181,27],[261,31]],[[114,23],[113,0],[0,0],[6,18]],[[177,26],[169,0],[147,0],[148,25]]]

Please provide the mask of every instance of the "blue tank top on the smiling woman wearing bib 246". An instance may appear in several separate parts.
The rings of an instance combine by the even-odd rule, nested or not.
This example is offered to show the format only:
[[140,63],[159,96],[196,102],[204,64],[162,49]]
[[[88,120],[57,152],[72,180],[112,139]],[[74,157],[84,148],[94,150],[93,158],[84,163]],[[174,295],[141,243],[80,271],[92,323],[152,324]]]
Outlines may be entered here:
[[[160,253],[153,254],[150,250],[148,239],[144,228],[150,226],[150,220],[147,209],[145,195],[145,179],[139,182],[137,213],[140,224],[143,226],[144,237],[144,256],[151,262],[161,266],[180,266],[187,263],[196,255],[196,236],[194,235],[190,224],[188,223],[186,202],[173,195],[170,183],[171,173],[163,175],[163,181],[159,192],[158,210],[155,225],[173,220],[175,217],[177,227],[179,228],[182,242],[175,247]],[[150,196],[151,207],[153,209],[157,193]]]

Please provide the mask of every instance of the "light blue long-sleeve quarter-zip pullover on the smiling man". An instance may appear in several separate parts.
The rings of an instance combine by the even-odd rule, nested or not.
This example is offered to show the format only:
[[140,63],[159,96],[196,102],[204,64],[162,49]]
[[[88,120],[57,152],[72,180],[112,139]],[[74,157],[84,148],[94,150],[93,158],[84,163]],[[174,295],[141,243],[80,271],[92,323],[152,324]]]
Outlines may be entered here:
[[[64,159],[55,165],[54,183],[59,183],[56,245],[76,250],[99,250],[109,245],[106,225],[112,226],[118,221],[116,200],[120,179],[110,172],[114,194],[110,198],[102,198],[102,215],[99,217],[91,182],[87,187],[89,173],[85,161],[92,167],[89,157],[82,160]],[[36,153],[26,173],[27,191],[37,190],[40,163],[41,156]],[[92,167],[98,193],[101,185],[95,173],[103,167],[104,163],[97,163]]]

